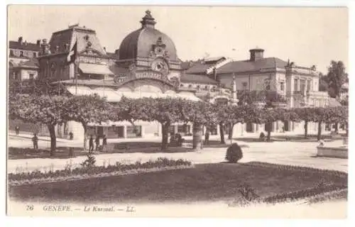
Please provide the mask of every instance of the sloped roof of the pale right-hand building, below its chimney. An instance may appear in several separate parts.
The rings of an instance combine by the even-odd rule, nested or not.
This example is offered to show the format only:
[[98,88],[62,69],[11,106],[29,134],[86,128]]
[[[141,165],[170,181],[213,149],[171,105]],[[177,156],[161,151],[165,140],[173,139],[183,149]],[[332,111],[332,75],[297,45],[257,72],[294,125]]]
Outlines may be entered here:
[[278,57],[265,57],[255,62],[250,60],[229,62],[217,69],[217,73],[260,71],[263,69],[284,68],[286,65],[287,62],[280,60]]

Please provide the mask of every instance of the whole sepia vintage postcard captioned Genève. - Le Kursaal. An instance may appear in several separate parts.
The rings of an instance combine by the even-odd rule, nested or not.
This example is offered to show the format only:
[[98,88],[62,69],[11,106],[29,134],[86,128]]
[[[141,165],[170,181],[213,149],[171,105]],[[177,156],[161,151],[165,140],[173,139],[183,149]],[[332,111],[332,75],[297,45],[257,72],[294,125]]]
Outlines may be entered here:
[[348,23],[8,6],[7,215],[346,218]]

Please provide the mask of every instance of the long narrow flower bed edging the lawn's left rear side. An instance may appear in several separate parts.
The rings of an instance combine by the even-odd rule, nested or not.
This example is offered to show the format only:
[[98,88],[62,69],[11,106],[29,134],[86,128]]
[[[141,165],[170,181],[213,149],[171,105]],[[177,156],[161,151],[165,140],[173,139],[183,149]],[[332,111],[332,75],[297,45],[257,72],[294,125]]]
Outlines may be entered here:
[[129,175],[141,172],[155,172],[161,170],[175,170],[192,167],[191,162],[187,160],[169,160],[165,157],[159,157],[155,161],[136,162],[134,164],[123,165],[121,162],[116,162],[116,165],[108,166],[90,166],[77,167],[71,169],[66,167],[65,170],[56,170],[49,172],[23,172],[9,173],[9,184],[33,184],[38,182],[57,182],[62,180],[75,180],[91,177],[106,177],[112,175]]

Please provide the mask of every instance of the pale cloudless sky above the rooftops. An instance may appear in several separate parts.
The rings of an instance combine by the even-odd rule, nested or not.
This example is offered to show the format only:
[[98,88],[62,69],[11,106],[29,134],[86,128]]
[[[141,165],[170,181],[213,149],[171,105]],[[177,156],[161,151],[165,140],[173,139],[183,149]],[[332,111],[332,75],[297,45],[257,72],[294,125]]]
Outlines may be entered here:
[[317,66],[326,73],[331,60],[348,66],[348,10],[317,7],[237,6],[9,6],[8,38],[35,43],[75,23],[92,28],[107,51],[119,49],[126,35],[141,28],[149,9],[155,28],[173,39],[181,60],[202,57],[264,57]]

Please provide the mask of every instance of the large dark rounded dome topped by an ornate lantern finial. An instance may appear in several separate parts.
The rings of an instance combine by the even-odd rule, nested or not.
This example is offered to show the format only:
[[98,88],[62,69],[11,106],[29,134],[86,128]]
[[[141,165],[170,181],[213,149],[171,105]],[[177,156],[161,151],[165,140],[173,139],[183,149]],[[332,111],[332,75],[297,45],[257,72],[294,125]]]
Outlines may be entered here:
[[150,11],[141,21],[142,28],[133,31],[124,38],[119,47],[119,60],[136,59],[136,57],[151,57],[153,45],[161,40],[171,60],[178,60],[173,40],[164,33],[156,30],[154,18]]

